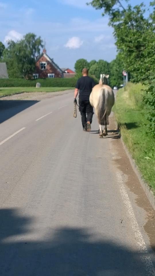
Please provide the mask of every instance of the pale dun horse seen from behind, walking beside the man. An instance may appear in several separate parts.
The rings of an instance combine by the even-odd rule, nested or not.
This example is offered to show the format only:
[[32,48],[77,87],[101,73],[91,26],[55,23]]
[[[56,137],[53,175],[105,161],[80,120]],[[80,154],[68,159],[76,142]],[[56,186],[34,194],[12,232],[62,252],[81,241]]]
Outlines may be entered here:
[[[108,116],[115,103],[113,90],[108,86],[109,75],[100,75],[99,84],[95,85],[90,94],[90,104],[95,108],[95,113],[100,125],[100,137],[107,135],[107,125],[109,124]],[[102,129],[104,126],[104,129]]]

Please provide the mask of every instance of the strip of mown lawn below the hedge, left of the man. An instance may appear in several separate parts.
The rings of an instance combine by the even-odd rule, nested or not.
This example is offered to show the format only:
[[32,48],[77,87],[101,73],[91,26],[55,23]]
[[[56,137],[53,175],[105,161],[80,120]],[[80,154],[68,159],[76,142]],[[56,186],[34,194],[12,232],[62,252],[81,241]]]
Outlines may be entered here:
[[0,97],[2,96],[9,96],[17,93],[24,93],[24,92],[57,92],[57,91],[64,91],[68,89],[73,89],[72,87],[7,87],[7,88],[0,88]]

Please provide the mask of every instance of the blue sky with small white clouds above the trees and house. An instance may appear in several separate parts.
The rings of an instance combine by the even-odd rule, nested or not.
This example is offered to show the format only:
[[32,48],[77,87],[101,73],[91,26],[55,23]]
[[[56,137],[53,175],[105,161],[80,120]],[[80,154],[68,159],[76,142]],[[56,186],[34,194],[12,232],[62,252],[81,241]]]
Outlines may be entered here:
[[[60,67],[74,69],[77,59],[116,56],[113,29],[102,11],[86,6],[87,0],[0,0],[0,41],[17,41],[28,32],[46,39],[47,54]],[[89,1],[88,1],[89,2]],[[122,1],[123,3],[124,1]],[[132,5],[141,0],[129,1]],[[143,1],[148,6],[148,0]]]

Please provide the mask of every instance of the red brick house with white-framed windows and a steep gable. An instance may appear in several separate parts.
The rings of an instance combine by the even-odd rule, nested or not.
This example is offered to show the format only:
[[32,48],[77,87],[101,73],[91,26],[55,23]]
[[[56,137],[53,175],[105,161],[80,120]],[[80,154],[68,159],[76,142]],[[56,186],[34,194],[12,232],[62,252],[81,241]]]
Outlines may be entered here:
[[63,71],[59,66],[51,59],[46,49],[43,49],[42,53],[36,58],[36,70],[33,74],[36,78],[63,78]]

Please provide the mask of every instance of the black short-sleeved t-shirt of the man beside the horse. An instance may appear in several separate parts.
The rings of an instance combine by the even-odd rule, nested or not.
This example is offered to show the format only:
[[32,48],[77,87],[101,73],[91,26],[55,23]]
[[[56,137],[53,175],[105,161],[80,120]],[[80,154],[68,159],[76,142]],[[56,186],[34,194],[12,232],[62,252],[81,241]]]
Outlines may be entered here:
[[92,88],[95,86],[93,78],[84,76],[78,79],[75,88],[79,89],[79,98],[82,100],[89,100]]

